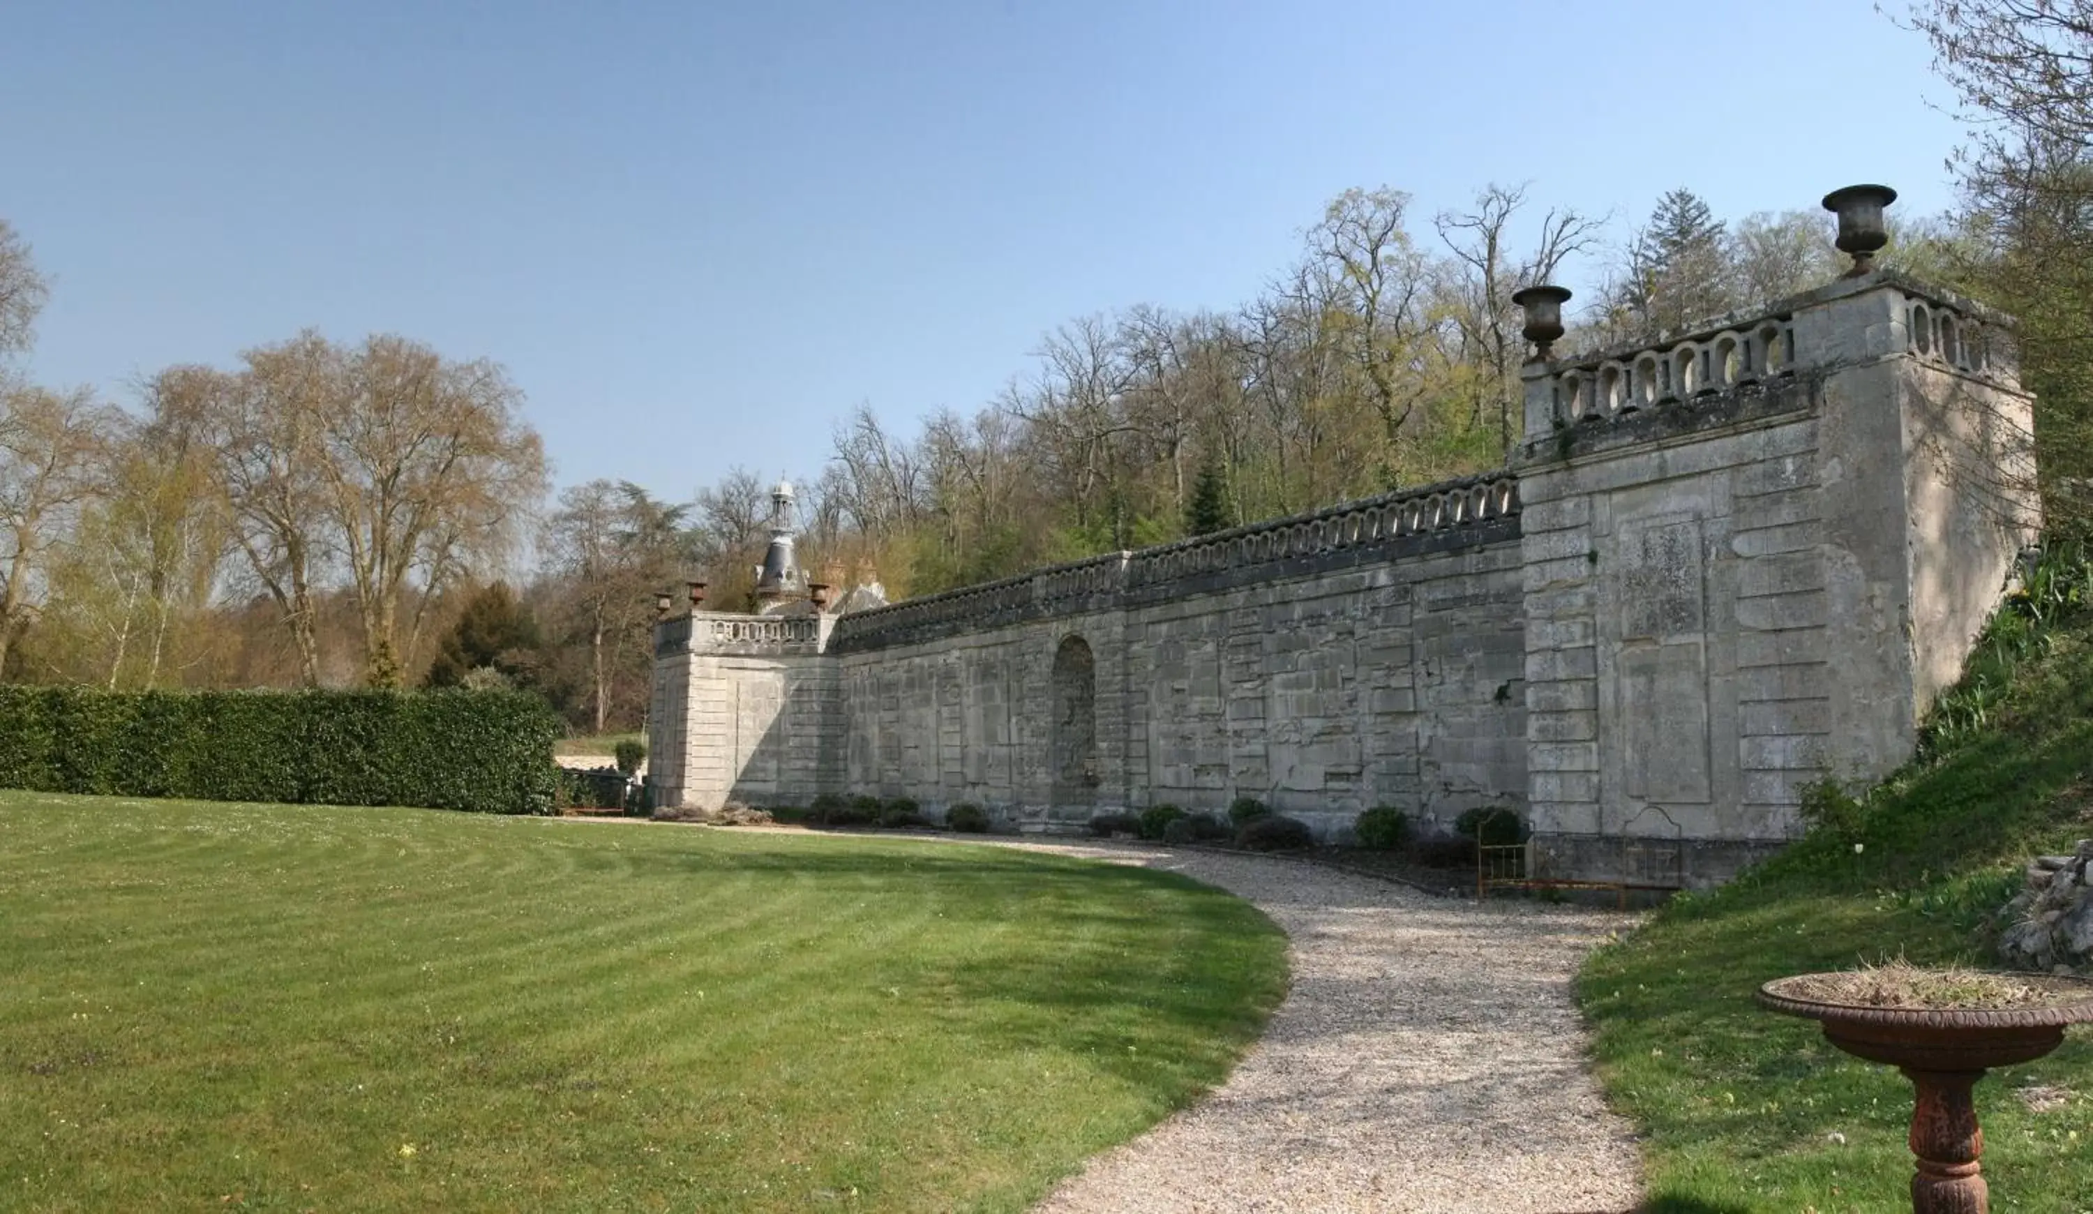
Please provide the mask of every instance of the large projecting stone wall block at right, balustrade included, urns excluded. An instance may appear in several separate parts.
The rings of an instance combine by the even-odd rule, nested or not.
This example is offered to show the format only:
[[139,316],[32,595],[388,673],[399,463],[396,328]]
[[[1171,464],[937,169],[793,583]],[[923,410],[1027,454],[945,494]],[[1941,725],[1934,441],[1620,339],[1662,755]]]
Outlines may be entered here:
[[1725,879],[1800,831],[1808,785],[1911,756],[2032,538],[2028,400],[1986,327],[1875,274],[1526,368],[1543,864]]

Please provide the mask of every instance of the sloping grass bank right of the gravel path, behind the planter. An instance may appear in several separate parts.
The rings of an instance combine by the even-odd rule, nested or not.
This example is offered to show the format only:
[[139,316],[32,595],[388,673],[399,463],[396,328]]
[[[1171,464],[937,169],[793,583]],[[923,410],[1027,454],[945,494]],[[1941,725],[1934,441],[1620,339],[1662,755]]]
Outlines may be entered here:
[[[2085,582],[2080,582],[2080,588]],[[1907,957],[1984,965],[2030,854],[2093,835],[2093,611],[2001,613],[1923,758],[1806,839],[1595,952],[1599,1078],[1643,1130],[1651,1214],[1909,1210],[1911,1084],[1758,1011],[1758,984]],[[2093,1210],[2093,1040],[1978,1086],[1993,1210]]]

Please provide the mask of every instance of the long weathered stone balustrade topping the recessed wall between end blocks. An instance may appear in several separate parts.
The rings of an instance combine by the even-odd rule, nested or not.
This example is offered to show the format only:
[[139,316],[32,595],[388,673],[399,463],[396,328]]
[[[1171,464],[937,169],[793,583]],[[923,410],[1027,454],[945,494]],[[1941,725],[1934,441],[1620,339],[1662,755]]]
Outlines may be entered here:
[[875,638],[967,620],[1023,615],[1055,607],[1080,609],[1086,601],[1111,605],[1118,594],[1130,588],[1386,544],[1404,536],[1467,527],[1517,513],[1520,484],[1511,473],[1442,481],[1139,553],[1107,553],[1000,582],[854,611],[837,617],[833,636],[837,645],[864,645]]

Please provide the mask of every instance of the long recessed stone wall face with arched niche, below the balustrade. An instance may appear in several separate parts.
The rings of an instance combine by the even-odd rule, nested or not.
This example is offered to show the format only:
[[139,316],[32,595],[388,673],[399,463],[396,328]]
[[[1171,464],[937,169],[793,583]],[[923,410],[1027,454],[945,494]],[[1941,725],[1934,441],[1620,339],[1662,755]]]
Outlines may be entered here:
[[1239,795],[1323,833],[1375,804],[1450,825],[1526,800],[1524,653],[1509,513],[1151,580],[846,649],[850,785],[1026,829]]

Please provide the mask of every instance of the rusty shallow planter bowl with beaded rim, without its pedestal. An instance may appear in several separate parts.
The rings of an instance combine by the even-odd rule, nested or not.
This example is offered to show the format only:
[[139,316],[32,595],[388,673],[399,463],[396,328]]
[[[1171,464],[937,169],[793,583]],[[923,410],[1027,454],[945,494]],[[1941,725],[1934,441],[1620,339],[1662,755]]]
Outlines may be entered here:
[[2064,1030],[2093,1021],[2093,982],[2016,973],[2055,998],[2018,1009],[1915,1009],[1827,1003],[1787,988],[1827,977],[1804,973],[1758,988],[1758,1005],[1823,1024],[1825,1040],[1867,1061],[1921,1072],[1982,1072],[2034,1061],[2064,1044]]

